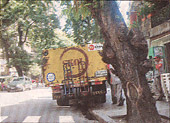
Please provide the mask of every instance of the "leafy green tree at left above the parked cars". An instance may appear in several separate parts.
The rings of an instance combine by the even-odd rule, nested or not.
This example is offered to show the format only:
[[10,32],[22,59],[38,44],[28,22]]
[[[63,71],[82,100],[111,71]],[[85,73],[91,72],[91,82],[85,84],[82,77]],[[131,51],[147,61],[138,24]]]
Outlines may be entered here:
[[55,44],[57,15],[50,1],[4,0],[1,4],[1,40],[9,66],[16,68],[18,75],[27,73],[33,63],[32,54]]

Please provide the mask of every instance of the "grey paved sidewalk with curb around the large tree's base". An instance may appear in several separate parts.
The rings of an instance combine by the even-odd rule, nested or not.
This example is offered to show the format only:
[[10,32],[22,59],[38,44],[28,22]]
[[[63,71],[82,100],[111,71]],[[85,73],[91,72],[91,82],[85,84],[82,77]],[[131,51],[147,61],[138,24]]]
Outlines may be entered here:
[[[122,120],[122,118],[118,116],[126,115],[126,102],[124,102],[124,106],[113,105],[109,88],[107,90],[106,99],[106,103],[90,110],[90,113],[101,123],[125,123],[125,120]],[[166,101],[157,101],[156,107],[159,114],[170,118],[170,103]]]

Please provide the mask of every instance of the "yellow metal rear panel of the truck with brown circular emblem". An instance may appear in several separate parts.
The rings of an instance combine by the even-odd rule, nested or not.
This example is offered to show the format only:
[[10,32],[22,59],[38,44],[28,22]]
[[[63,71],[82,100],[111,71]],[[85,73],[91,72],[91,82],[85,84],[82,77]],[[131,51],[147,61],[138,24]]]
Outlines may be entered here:
[[[78,76],[83,74],[83,72],[79,73],[78,71],[78,62],[80,61],[86,62],[88,77],[95,77],[96,71],[106,69],[106,64],[102,61],[102,57],[98,51],[88,51],[88,46],[49,49],[48,55],[44,57],[48,59],[48,62],[44,65],[44,79],[46,84],[51,83],[49,82],[50,79],[47,79],[49,73],[55,75],[55,80],[52,81],[55,84],[60,84],[64,80],[63,63],[71,63],[72,75],[75,82],[79,80]],[[93,79],[104,80],[105,77]]]

